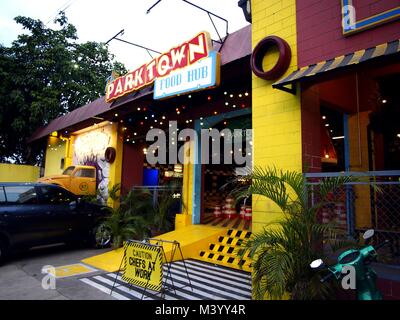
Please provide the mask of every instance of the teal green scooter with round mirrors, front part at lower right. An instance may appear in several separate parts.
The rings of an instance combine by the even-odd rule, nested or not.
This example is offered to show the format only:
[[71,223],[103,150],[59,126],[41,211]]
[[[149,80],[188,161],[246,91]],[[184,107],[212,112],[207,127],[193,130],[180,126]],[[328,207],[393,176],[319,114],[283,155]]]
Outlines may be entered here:
[[[367,230],[363,234],[364,240],[368,240],[374,235],[374,230]],[[327,267],[322,259],[313,261],[310,264],[312,269],[327,268],[330,272],[328,275],[321,279],[321,282],[325,282],[330,278],[334,277],[336,280],[340,280],[353,271],[355,274],[355,288],[357,290],[357,300],[382,300],[383,295],[378,290],[376,285],[377,275],[376,272],[371,268],[370,264],[376,261],[377,251],[388,245],[389,241],[386,240],[383,243],[373,247],[372,245],[366,245],[361,249],[350,249],[339,255],[337,264]]]

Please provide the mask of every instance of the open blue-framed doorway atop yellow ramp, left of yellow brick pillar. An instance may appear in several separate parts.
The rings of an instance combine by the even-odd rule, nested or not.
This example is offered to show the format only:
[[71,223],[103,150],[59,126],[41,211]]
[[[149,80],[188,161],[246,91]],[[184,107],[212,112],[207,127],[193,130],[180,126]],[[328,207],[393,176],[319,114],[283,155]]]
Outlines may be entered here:
[[[238,174],[242,173],[240,170],[245,170],[246,165],[250,167],[251,164],[239,164],[238,161],[235,161],[234,156],[232,162],[229,159],[225,161],[224,153],[227,152],[227,158],[229,158],[229,154],[234,152],[240,152],[242,156],[251,157],[252,148],[248,148],[252,145],[252,137],[248,135],[252,128],[251,113],[250,110],[232,112],[223,114],[219,118],[223,120],[215,123],[213,128],[218,130],[221,135],[221,145],[220,150],[218,150],[221,155],[221,163],[215,163],[215,161],[213,163],[215,153],[211,150],[208,164],[202,164],[200,221],[203,224],[224,228],[250,230],[251,197],[235,199],[233,192],[234,189],[239,187]],[[211,123],[218,120],[218,117],[216,117],[215,119],[205,119],[205,122]],[[240,141],[234,140],[233,136],[225,135],[224,130],[230,131],[233,135],[235,132],[236,134],[241,133],[242,139]],[[223,142],[225,141],[231,147],[231,151],[224,150]],[[245,217],[246,207],[247,216]]]

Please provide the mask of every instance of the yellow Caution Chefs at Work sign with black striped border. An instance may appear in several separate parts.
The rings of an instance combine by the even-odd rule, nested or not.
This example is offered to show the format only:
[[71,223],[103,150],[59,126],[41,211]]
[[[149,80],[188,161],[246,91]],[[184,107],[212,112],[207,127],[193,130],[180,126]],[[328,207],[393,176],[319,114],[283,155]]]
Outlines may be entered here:
[[124,243],[124,272],[122,279],[130,284],[161,291],[162,248],[141,242]]

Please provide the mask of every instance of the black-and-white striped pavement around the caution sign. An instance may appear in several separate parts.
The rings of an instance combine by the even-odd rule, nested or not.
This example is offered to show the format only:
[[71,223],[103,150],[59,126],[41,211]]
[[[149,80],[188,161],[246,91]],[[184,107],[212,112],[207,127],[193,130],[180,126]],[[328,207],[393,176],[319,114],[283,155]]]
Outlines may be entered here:
[[[166,300],[250,300],[250,273],[228,269],[198,260],[172,263],[170,276],[164,266],[164,283],[168,285]],[[171,280],[172,279],[172,280]],[[116,273],[91,275],[80,281],[112,294],[118,300],[159,300],[161,294],[130,286]],[[111,292],[112,290],[112,292]]]

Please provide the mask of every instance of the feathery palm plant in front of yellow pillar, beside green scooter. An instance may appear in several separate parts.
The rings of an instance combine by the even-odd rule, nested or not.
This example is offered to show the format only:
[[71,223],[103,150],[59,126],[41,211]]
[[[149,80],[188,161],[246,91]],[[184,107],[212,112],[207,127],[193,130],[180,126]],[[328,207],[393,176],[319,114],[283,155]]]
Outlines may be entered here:
[[251,185],[236,190],[238,197],[261,195],[274,202],[283,218],[265,226],[244,244],[253,259],[255,296],[269,295],[280,299],[289,293],[291,299],[324,299],[332,295],[329,284],[321,284],[319,275],[310,263],[327,259],[324,247],[332,250],[349,245],[341,240],[340,231],[333,224],[321,224],[319,210],[332,203],[330,195],[352,177],[326,178],[320,181],[314,196],[317,203],[310,205],[309,190],[302,173],[280,171],[276,168],[255,168],[248,176]]

